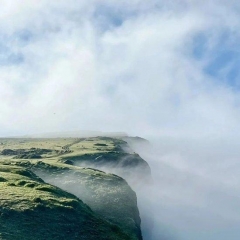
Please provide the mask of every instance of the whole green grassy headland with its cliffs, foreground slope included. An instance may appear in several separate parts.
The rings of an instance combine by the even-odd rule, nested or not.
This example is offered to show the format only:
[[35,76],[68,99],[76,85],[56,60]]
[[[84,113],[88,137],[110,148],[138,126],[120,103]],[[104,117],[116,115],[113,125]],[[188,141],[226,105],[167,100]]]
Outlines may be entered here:
[[130,186],[150,169],[122,139],[1,139],[0,151],[1,239],[142,239]]

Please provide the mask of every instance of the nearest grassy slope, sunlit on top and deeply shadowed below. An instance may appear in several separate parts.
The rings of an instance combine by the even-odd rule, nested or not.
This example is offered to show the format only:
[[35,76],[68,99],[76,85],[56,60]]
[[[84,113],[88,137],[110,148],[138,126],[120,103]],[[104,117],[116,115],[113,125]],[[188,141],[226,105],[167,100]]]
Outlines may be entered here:
[[0,179],[0,239],[133,239],[25,168],[0,165]]

